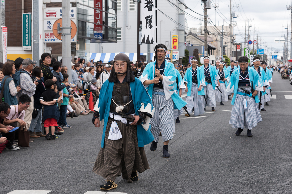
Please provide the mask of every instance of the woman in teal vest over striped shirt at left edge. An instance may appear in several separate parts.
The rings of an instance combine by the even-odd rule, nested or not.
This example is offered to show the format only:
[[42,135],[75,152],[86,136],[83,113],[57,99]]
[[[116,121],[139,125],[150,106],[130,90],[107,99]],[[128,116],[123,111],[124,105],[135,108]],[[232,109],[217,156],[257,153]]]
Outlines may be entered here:
[[[4,97],[4,100],[9,105],[17,105],[18,101],[16,98],[16,94],[20,91],[20,87],[15,87],[14,80],[12,78],[12,75],[15,74],[15,64],[13,62],[6,62],[3,66],[3,74],[5,75],[3,78],[3,83],[1,83],[1,95],[0,98]],[[2,101],[0,100],[0,103]]]

